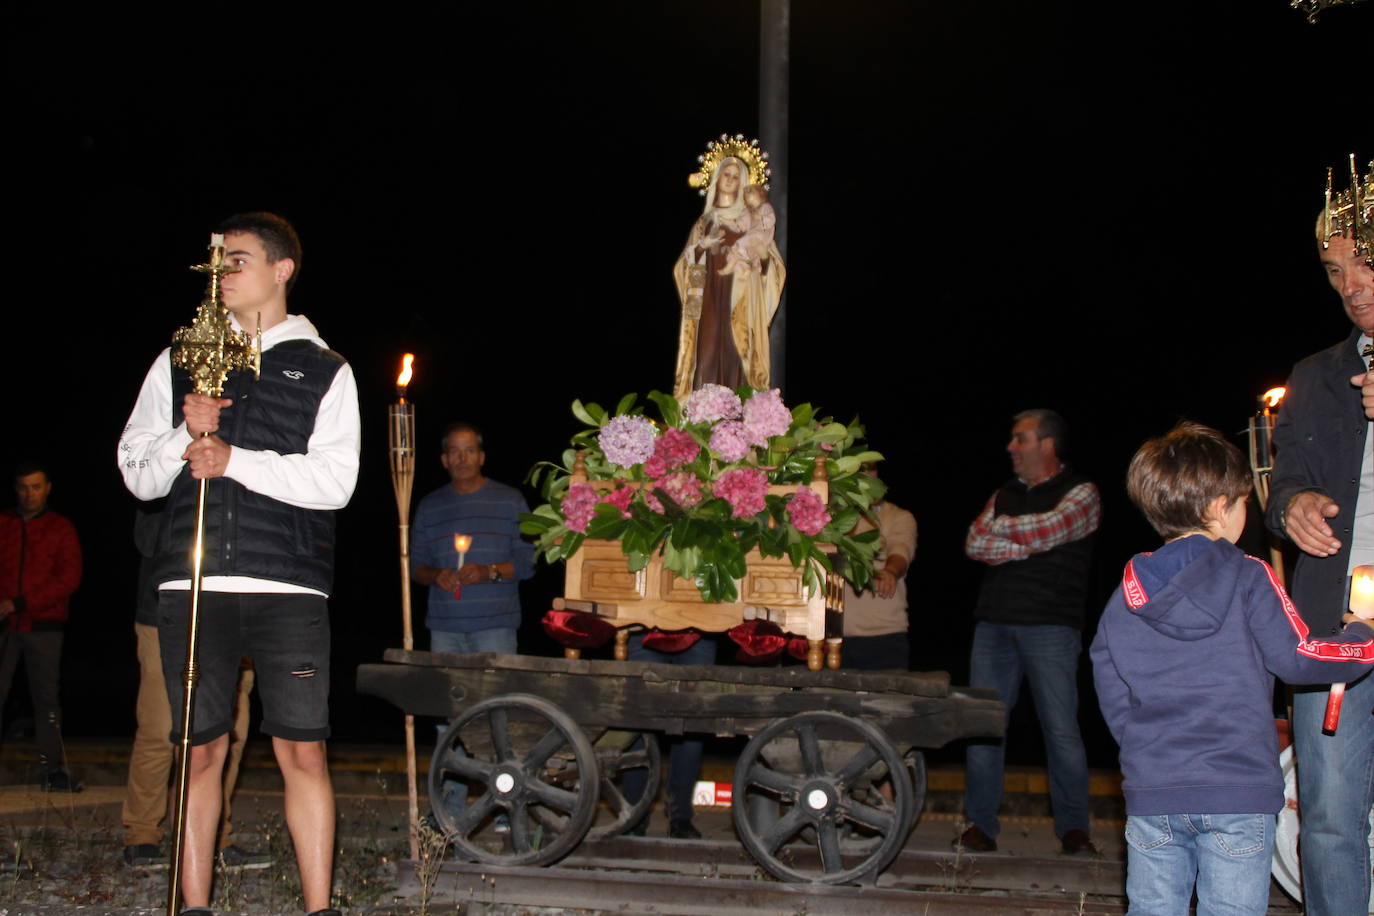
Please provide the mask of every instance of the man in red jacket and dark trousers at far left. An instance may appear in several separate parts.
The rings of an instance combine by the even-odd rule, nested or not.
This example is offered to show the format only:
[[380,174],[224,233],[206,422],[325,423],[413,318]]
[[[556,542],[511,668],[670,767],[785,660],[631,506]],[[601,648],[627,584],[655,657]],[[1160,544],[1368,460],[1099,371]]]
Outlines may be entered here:
[[29,670],[41,786],[80,791],[62,768],[58,670],[67,599],[81,582],[81,545],[71,522],[48,511],[52,481],[38,464],[15,468],[18,505],[0,512],[0,710],[19,656]]

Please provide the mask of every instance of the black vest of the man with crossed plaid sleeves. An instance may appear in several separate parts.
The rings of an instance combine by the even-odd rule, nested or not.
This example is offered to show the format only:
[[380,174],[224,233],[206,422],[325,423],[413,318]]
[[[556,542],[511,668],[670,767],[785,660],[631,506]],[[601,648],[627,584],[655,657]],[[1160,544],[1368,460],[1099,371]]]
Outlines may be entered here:
[[[1040,486],[1011,481],[998,490],[998,515],[1048,512],[1088,478],[1065,468]],[[1096,534],[1061,544],[1024,560],[989,566],[982,574],[974,618],[989,623],[1058,623],[1083,629],[1088,567]]]

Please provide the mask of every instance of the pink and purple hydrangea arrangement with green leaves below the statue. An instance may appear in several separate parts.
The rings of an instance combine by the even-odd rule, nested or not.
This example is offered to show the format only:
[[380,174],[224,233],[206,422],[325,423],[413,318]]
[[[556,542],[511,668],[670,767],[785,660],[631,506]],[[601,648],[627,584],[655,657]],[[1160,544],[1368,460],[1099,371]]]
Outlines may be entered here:
[[[662,391],[649,400],[658,420],[644,416],[635,394],[614,416],[573,401],[589,428],[573,435],[562,463],[534,466],[530,481],[545,501],[521,516],[548,562],[572,556],[588,537],[620,541],[632,571],[661,553],[706,602],[738,600],[735,582],[754,548],[805,567],[811,589],[820,588],[820,570],[834,569],[834,553],[856,589],[871,581],[878,533],[851,531],[886,488],[860,471],[882,456],[864,448],[857,420],[818,417],[809,404],[787,409],[776,389],[705,385],[680,404]],[[578,453],[585,482],[573,479]],[[829,503],[808,486],[818,460]],[[771,489],[778,486],[787,489]]]

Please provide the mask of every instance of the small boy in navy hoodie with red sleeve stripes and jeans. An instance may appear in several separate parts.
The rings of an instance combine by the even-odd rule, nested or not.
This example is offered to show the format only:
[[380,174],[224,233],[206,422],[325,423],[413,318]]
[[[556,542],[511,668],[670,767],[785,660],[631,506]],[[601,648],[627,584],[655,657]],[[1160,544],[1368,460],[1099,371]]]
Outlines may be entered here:
[[1250,472],[1216,430],[1180,423],[1131,459],[1127,490],[1165,538],[1125,566],[1092,677],[1121,746],[1131,913],[1263,915],[1283,777],[1274,676],[1355,680],[1374,630],[1311,639],[1274,570],[1235,547]]

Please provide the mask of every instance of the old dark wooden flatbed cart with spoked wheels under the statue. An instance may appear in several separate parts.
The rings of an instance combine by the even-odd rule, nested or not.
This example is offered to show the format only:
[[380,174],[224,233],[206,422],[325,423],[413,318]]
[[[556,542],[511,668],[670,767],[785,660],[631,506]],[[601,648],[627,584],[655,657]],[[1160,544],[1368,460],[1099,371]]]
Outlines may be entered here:
[[[921,748],[999,736],[1004,714],[993,691],[951,688],[944,672],[403,650],[360,666],[357,688],[451,720],[430,803],[458,854],[491,864],[547,865],[594,823],[600,835],[633,827],[657,792],[653,732],[747,736],[735,828],[789,882],[849,883],[885,868],[925,801]],[[471,799],[456,817],[444,805],[455,791]]]

